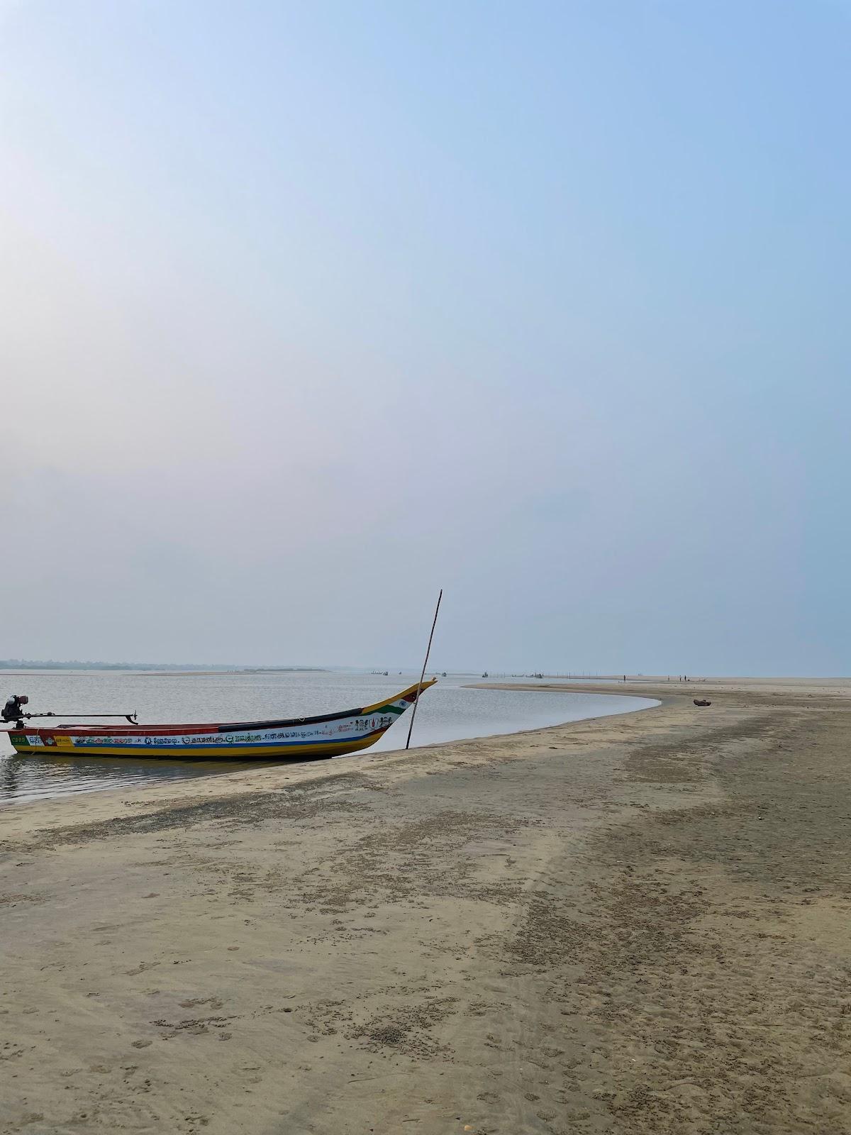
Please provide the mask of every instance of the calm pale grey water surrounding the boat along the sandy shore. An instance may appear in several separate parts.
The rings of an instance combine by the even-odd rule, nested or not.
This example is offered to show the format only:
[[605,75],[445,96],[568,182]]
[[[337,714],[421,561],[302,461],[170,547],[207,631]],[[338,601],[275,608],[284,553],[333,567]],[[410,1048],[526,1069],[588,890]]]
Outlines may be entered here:
[[[398,693],[419,674],[141,674],[137,672],[0,671],[2,701],[28,693],[34,713],[138,713],[142,723],[253,721],[334,713],[370,705]],[[416,711],[412,746],[469,737],[514,733],[600,717],[656,705],[648,698],[604,693],[554,693],[523,690],[471,690],[475,675],[443,678]],[[376,749],[405,746],[408,711]],[[346,759],[346,758],[340,758]],[[0,734],[0,805],[45,799],[192,776],[210,776],[250,767],[166,760],[110,760],[104,757],[18,757]]]

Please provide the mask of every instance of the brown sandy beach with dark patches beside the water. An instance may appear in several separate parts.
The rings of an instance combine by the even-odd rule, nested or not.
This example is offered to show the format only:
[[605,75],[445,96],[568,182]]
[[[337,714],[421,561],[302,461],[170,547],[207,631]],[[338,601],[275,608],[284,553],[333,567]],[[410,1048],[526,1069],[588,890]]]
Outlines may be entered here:
[[5,809],[0,1132],[851,1129],[851,686],[599,689]]

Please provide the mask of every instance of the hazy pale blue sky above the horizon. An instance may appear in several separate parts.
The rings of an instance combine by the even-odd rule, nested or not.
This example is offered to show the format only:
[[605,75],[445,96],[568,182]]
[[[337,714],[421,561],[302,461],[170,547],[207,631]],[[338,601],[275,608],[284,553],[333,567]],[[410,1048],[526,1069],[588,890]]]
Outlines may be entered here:
[[851,672],[851,5],[0,39],[0,657]]

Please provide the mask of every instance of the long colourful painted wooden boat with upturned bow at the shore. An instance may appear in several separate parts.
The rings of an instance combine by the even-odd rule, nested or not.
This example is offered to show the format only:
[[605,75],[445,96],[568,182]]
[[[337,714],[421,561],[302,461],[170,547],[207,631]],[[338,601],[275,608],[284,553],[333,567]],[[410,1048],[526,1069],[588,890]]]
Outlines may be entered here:
[[224,725],[25,725],[9,730],[22,756],[133,757],[136,760],[287,760],[357,753],[384,737],[419,695],[410,686],[360,709]]

